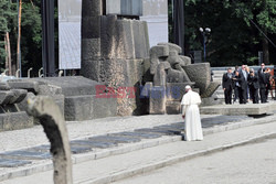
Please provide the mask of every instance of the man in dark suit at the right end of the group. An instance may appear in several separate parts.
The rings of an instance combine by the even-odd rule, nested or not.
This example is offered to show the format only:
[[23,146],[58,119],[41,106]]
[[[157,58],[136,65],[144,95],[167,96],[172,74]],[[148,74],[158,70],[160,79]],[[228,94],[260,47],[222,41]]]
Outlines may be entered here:
[[261,68],[258,69],[258,83],[259,83],[259,96],[261,96],[261,102],[266,102],[266,95],[265,90],[267,87],[267,77],[265,74],[265,64],[262,63]]

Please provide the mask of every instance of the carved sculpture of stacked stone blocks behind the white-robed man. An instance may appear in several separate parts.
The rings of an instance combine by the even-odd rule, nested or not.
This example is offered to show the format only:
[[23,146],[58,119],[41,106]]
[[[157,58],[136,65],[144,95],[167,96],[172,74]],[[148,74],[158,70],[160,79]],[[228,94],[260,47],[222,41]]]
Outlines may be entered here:
[[191,64],[190,57],[179,55],[181,52],[172,43],[158,43],[150,48],[153,82],[147,83],[141,93],[149,97],[149,113],[179,113],[187,85],[197,88],[202,98],[211,97],[219,87],[219,83],[211,82],[209,63]]

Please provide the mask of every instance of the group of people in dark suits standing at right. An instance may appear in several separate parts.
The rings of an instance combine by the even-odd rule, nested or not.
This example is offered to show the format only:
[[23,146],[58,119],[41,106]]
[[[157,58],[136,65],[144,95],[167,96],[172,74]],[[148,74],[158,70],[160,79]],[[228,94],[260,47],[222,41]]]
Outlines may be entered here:
[[266,68],[264,63],[257,72],[246,65],[242,65],[241,69],[236,66],[234,72],[227,68],[222,77],[225,104],[232,104],[233,90],[234,101],[238,98],[240,104],[246,104],[250,100],[258,104],[259,97],[262,104],[267,102],[272,79],[270,68]]

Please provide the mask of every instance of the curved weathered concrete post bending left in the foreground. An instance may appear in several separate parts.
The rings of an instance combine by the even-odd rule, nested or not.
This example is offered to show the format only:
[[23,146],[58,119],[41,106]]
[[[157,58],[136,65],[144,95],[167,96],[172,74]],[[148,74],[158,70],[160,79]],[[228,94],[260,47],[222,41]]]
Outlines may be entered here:
[[29,113],[40,119],[51,142],[54,165],[54,183],[72,184],[72,161],[68,134],[60,108],[50,97],[39,96],[28,100]]

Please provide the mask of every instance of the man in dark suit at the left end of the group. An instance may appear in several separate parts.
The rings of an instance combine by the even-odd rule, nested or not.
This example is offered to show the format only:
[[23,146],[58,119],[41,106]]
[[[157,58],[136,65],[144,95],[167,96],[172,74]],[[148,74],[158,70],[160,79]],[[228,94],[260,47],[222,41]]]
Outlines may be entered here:
[[232,90],[233,90],[233,73],[232,68],[227,68],[227,73],[222,76],[222,88],[224,90],[224,99],[226,105],[232,104]]

